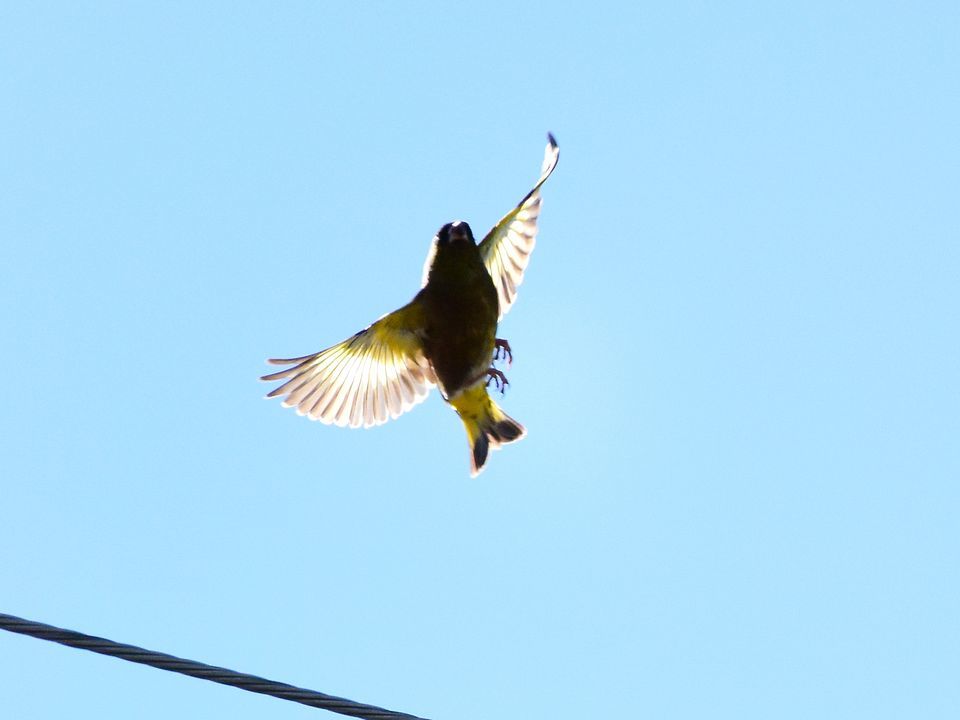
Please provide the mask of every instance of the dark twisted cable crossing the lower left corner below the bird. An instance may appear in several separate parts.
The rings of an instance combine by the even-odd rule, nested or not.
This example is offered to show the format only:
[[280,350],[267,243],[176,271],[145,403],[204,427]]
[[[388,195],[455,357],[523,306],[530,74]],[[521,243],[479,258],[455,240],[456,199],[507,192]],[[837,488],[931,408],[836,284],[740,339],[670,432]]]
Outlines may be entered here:
[[200,678],[201,680],[210,680],[221,685],[230,685],[231,687],[248,690],[249,692],[260,693],[262,695],[272,695],[281,700],[290,700],[310,707],[323,708],[331,712],[349,715],[351,717],[364,718],[364,720],[424,720],[416,715],[385,710],[375,705],[365,705],[364,703],[354,702],[335,695],[325,695],[315,690],[305,690],[287,683],[275,682],[256,675],[247,675],[238,673],[234,670],[206,665],[194,660],[184,660],[173,655],[154,652],[153,650],[144,650],[136,645],[124,645],[93,635],[84,635],[74,630],[64,630],[53,625],[44,625],[43,623],[24,620],[13,615],[0,613],[0,630],[9,630],[10,632],[21,635],[30,635],[31,637],[50,642],[60,643],[69,647],[89,650],[90,652],[100,653],[101,655],[110,655],[121,660],[149,665],[159,670],[168,670],[170,672],[189,675],[190,677]]

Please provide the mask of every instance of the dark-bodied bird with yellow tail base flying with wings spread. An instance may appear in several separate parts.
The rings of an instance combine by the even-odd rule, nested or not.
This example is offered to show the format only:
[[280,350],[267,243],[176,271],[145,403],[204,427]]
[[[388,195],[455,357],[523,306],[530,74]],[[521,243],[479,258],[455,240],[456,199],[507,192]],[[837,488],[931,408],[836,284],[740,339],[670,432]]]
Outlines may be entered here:
[[282,397],[284,407],[311,420],[356,428],[396,418],[438,387],[463,421],[476,477],[490,450],[526,435],[488,388],[503,394],[509,384],[494,366],[513,360],[497,325],[516,301],[536,242],[540,188],[559,157],[548,133],[536,185],[479,243],[466,222],[441,227],[409,303],[326,350],[267,360],[289,367],[260,378],[284,381],[266,397]]

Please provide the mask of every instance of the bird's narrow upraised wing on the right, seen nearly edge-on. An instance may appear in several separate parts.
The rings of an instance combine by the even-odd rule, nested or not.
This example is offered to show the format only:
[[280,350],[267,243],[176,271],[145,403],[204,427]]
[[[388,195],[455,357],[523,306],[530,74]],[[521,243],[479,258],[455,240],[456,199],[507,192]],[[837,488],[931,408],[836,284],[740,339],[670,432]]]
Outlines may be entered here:
[[540,186],[557,167],[560,148],[553,135],[548,134],[547,149],[543,154],[540,179],[520,204],[504,215],[478,246],[483,264],[497,286],[500,317],[507,314],[517,298],[517,288],[523,282],[523,271],[530,262],[530,253],[537,240],[537,216],[540,215]]

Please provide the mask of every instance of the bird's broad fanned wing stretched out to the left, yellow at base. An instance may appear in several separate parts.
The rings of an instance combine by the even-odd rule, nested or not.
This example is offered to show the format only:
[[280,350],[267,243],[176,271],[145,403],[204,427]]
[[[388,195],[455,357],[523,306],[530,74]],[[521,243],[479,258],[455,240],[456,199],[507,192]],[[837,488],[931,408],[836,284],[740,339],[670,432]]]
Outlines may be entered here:
[[411,303],[314,355],[268,360],[293,367],[260,378],[286,381],[267,397],[282,396],[299,415],[341,427],[380,425],[405,413],[436,384],[417,333],[420,314]]

